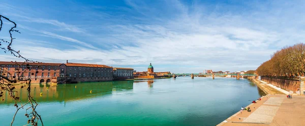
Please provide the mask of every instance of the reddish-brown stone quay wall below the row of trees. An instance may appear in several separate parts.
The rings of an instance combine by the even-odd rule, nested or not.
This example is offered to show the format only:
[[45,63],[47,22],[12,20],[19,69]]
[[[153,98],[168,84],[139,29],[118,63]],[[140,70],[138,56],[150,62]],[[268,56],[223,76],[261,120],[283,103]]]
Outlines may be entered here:
[[271,83],[274,86],[280,87],[286,91],[296,92],[297,89],[302,91],[305,90],[304,81],[305,76],[300,77],[270,77],[270,76],[261,76],[261,80]]

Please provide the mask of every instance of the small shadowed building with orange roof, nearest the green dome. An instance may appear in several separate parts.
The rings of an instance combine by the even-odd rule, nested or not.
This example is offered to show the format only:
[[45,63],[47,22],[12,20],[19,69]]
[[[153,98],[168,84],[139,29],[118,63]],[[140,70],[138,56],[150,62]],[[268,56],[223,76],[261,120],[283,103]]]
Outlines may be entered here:
[[133,68],[113,68],[113,79],[133,79]]

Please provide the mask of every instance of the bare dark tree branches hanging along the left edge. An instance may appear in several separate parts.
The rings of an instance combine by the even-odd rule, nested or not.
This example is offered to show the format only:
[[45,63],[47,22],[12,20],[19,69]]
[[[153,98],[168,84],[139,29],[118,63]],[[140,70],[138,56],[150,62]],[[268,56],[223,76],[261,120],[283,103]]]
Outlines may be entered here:
[[[12,56],[17,57],[17,58],[21,58],[22,60],[24,60],[24,62],[20,63],[20,62],[13,62],[17,65],[17,67],[15,68],[16,71],[16,75],[11,75],[10,72],[3,68],[0,67],[0,98],[2,101],[4,101],[4,97],[3,97],[3,93],[4,92],[8,92],[10,98],[12,98],[15,102],[14,106],[16,107],[16,112],[13,116],[11,125],[13,125],[14,120],[15,120],[15,116],[18,113],[19,110],[25,110],[26,114],[25,114],[25,118],[27,120],[27,122],[25,121],[26,125],[38,125],[38,123],[40,122],[41,125],[43,125],[41,116],[37,113],[36,111],[36,107],[38,106],[38,103],[36,102],[36,100],[33,98],[33,96],[31,96],[31,79],[29,78],[25,78],[23,76],[24,72],[29,71],[29,69],[33,69],[33,66],[30,66],[28,63],[38,63],[37,61],[32,61],[32,60],[28,60],[25,57],[20,55],[20,51],[15,51],[14,49],[12,49],[12,44],[13,44],[13,40],[15,39],[13,37],[13,33],[20,33],[18,30],[16,30],[15,28],[17,27],[17,24],[10,20],[9,18],[0,15],[0,32],[3,32],[4,30],[4,24],[11,24],[12,26],[9,28],[9,36],[10,36],[10,40],[6,40],[4,38],[1,38],[0,36],[0,48],[5,52],[5,53],[10,53]],[[21,65],[26,65],[26,69],[22,70],[20,68]],[[34,66],[35,67],[35,66]],[[39,67],[39,66],[38,66]],[[37,73],[38,71],[36,71]],[[32,75],[34,75],[34,73],[32,73]],[[15,94],[17,93],[15,87],[16,86],[20,86],[20,88],[26,88],[27,89],[27,101],[20,101],[20,98],[15,96]]]

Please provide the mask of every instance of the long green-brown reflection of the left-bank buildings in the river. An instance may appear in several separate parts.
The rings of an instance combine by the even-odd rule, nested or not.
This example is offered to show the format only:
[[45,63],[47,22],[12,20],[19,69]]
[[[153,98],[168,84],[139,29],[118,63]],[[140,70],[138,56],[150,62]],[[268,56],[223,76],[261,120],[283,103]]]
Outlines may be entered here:
[[[63,102],[70,100],[86,99],[90,97],[97,97],[102,95],[112,94],[113,91],[126,91],[133,89],[133,80],[130,81],[107,81],[107,82],[83,82],[75,84],[66,85],[48,85],[39,84],[31,85],[31,95],[38,102]],[[14,95],[20,97],[20,101],[27,101],[27,87],[22,88],[16,86],[16,91]],[[42,93],[42,95],[40,95]],[[8,95],[8,92],[4,92],[2,96],[3,103],[13,103]]]

